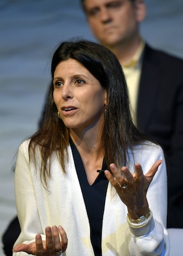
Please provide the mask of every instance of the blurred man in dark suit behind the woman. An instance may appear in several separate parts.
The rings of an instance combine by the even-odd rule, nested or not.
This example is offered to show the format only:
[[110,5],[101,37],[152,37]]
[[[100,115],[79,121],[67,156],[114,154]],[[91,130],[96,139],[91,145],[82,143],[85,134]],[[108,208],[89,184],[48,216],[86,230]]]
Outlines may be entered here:
[[152,49],[142,38],[143,0],[81,0],[81,4],[95,38],[122,65],[134,124],[164,149],[167,227],[183,228],[183,60]]

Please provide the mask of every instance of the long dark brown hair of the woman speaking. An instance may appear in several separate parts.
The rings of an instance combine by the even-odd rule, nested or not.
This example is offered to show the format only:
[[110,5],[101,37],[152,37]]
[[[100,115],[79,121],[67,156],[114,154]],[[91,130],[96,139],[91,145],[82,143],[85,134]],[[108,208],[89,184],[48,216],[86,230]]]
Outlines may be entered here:
[[[79,61],[99,80],[107,92],[107,111],[104,115],[104,126],[101,145],[104,148],[106,164],[115,163],[118,167],[127,163],[127,150],[143,141],[143,136],[134,126],[129,109],[127,85],[122,67],[116,56],[106,47],[87,40],[63,42],[54,52],[51,63],[52,79],[57,65],[72,58]],[[45,120],[41,129],[31,137],[29,155],[33,153],[36,161],[36,148],[41,154],[41,175],[46,182],[50,175],[50,159],[52,152],[58,153],[61,167],[65,172],[68,160],[67,147],[69,131],[57,116],[57,108],[53,100],[53,84],[49,88]]]

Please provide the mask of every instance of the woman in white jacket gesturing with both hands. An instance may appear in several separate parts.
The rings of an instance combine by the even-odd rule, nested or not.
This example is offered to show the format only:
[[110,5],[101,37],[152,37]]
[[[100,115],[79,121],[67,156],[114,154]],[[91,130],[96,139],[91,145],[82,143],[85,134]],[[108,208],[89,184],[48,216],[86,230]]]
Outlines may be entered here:
[[17,157],[13,255],[168,255],[163,151],[134,127],[115,55],[63,42],[51,74],[44,125]]

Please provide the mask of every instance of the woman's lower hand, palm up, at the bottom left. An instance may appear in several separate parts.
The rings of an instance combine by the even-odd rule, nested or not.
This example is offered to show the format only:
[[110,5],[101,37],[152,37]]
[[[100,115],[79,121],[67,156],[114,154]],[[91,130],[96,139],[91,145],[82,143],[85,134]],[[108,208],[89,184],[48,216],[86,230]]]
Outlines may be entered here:
[[[65,230],[59,226],[45,228],[46,241],[42,241],[40,234],[36,235],[35,242],[29,244],[17,244],[13,248],[13,252],[26,252],[36,256],[56,256],[56,252],[60,250],[65,252],[67,249],[67,234]],[[60,240],[61,237],[61,240]]]

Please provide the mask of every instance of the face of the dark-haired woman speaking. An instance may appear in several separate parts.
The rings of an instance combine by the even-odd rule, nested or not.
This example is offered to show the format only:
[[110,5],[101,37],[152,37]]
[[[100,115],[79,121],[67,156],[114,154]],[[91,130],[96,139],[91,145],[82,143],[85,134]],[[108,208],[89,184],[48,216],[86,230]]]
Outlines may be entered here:
[[106,90],[81,63],[61,61],[54,71],[54,102],[66,127],[82,132],[104,120]]

